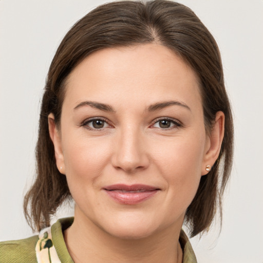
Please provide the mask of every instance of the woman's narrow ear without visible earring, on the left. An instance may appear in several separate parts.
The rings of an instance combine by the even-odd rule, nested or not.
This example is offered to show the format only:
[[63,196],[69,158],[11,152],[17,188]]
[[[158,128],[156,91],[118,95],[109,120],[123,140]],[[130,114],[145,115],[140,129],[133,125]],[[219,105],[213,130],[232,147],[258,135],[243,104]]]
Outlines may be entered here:
[[55,160],[58,170],[61,174],[65,174],[64,155],[62,151],[61,135],[58,128],[55,125],[54,115],[51,113],[48,115],[48,129],[49,136],[54,144]]

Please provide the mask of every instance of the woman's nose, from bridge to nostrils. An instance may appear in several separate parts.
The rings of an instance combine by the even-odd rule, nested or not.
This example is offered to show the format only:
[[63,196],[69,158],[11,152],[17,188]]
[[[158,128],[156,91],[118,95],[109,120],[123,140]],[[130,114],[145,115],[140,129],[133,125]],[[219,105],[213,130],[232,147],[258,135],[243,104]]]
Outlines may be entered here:
[[119,131],[114,142],[112,165],[126,173],[145,170],[149,165],[146,143],[138,129],[126,127]]

